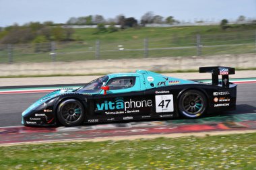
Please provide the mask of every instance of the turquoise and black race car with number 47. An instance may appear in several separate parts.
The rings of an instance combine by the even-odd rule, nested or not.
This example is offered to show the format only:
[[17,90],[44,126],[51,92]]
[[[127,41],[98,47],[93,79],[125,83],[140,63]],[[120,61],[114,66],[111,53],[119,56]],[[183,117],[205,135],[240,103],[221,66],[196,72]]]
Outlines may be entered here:
[[22,124],[79,126],[179,116],[199,118],[234,110],[236,85],[229,82],[228,75],[235,69],[200,67],[199,73],[212,73],[212,83],[143,70],[105,75],[77,89],[59,89],[38,99],[22,113]]

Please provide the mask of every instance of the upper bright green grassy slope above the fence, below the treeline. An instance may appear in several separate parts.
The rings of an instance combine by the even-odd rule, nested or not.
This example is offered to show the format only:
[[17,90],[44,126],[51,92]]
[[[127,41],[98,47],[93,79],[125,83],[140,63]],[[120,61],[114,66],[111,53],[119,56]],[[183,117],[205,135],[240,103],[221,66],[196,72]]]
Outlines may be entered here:
[[220,26],[184,26],[172,28],[129,28],[113,33],[94,34],[96,29],[75,29],[73,38],[79,40],[137,40],[143,38],[173,38],[173,36],[195,36],[196,34],[230,34],[255,30],[256,26],[233,26],[222,30]]

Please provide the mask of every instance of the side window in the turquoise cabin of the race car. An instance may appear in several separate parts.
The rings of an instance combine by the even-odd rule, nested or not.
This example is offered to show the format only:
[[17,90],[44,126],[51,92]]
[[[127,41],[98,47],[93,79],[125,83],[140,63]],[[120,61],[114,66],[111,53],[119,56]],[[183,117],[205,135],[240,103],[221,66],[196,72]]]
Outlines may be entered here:
[[135,85],[135,77],[114,78],[107,85],[110,90],[128,89]]

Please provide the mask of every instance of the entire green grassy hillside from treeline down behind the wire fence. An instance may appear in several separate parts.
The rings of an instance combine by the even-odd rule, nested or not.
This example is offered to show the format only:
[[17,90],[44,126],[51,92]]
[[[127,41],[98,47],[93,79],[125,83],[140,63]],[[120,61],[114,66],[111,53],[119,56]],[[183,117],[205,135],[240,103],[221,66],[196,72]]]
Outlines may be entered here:
[[75,29],[73,41],[55,42],[54,50],[51,42],[14,44],[11,49],[0,46],[0,63],[254,53],[255,29],[253,24],[226,30],[220,26],[183,26],[99,34],[95,34],[96,28]]

